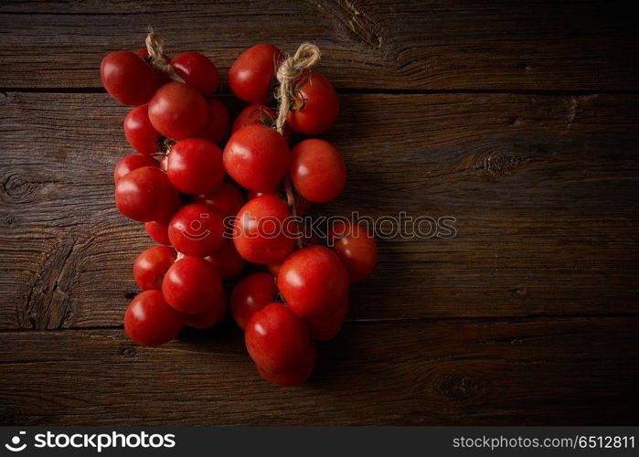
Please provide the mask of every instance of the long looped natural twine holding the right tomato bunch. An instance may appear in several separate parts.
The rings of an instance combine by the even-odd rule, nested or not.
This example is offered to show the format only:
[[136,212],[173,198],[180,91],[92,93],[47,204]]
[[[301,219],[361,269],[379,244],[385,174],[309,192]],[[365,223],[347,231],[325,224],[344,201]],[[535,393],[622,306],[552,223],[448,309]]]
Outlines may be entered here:
[[[280,67],[277,69],[276,77],[280,83],[280,90],[275,94],[280,101],[278,108],[277,120],[275,128],[279,133],[283,133],[284,124],[293,105],[293,82],[302,76],[302,72],[306,69],[312,69],[320,60],[320,50],[311,43],[302,43],[295,51],[293,56],[285,58]],[[295,210],[295,195],[293,186],[288,175],[284,176],[284,189],[286,191],[286,203],[291,207],[293,218],[297,217]],[[297,247],[302,248],[302,239],[298,238]]]

